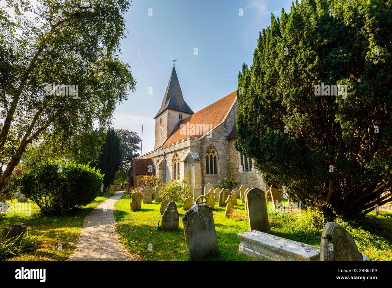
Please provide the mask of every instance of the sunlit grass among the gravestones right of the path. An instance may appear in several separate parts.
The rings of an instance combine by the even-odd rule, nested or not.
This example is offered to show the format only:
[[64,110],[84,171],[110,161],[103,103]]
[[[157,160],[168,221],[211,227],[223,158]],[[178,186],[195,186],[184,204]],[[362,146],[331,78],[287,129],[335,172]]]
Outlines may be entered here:
[[[287,200],[282,199],[283,204]],[[246,255],[238,253],[240,240],[237,233],[249,231],[244,204],[234,206],[232,218],[225,216],[225,207],[218,207],[215,202],[214,223],[220,254],[205,257],[209,261],[254,261]],[[176,231],[156,231],[160,203],[142,204],[137,212],[130,211],[130,198],[123,196],[115,204],[114,216],[117,222],[117,233],[120,240],[132,254],[140,255],[144,261],[187,261],[182,216],[183,203],[176,203],[180,214],[179,228]],[[272,202],[267,202],[270,210]],[[356,227],[350,223],[338,221],[352,235],[358,249],[368,255],[372,261],[392,261],[392,213],[381,212],[381,216],[369,214],[365,220],[367,225]],[[389,217],[384,217],[387,215]],[[324,228],[322,216],[312,210],[302,211],[299,216],[290,213],[269,212],[270,234],[278,235],[294,241],[320,246],[321,233]],[[152,250],[149,250],[149,244]],[[150,246],[151,246],[150,245]]]

